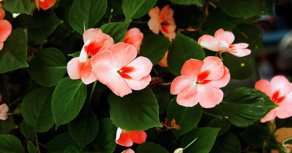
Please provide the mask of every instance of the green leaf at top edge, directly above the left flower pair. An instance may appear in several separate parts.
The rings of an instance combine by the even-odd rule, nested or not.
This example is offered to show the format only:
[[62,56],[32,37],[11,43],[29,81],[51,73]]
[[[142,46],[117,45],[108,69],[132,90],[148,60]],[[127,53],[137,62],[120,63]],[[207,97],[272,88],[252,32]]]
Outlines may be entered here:
[[85,29],[92,28],[103,16],[107,0],[75,0],[69,11],[69,24],[83,35]]

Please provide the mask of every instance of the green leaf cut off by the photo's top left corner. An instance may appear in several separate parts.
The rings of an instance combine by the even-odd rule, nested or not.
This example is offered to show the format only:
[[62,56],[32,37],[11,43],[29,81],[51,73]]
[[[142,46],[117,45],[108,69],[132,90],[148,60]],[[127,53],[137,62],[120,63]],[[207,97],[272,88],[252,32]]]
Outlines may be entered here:
[[2,1],[3,8],[11,13],[29,14],[30,0]]

